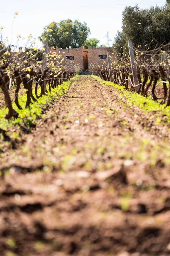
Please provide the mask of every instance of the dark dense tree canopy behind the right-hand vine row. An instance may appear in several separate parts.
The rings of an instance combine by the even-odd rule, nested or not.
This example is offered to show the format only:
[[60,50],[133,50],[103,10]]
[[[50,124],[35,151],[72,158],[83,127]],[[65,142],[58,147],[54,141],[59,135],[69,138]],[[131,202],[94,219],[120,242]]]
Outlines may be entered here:
[[135,47],[148,49],[170,42],[170,0],[163,7],[140,9],[126,6],[122,14],[122,32],[117,33],[114,41],[116,52],[127,51],[127,41],[132,40]]

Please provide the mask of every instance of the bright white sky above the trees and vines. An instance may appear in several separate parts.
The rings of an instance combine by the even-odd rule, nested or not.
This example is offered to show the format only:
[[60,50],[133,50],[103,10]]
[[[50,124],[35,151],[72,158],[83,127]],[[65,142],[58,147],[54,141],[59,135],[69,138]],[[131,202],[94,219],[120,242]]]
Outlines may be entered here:
[[[106,44],[104,36],[107,31],[111,40],[114,40],[117,30],[121,30],[125,6],[134,6],[136,3],[144,9],[163,6],[166,0],[0,0],[0,26],[5,27],[0,32],[3,32],[3,38],[8,36],[9,44],[24,46],[28,35],[37,38],[45,25],[70,18],[85,21],[91,29],[90,37],[98,38],[100,44]],[[14,19],[16,11],[18,15]],[[17,43],[17,34],[25,39]],[[36,40],[36,44],[41,46],[39,40]]]

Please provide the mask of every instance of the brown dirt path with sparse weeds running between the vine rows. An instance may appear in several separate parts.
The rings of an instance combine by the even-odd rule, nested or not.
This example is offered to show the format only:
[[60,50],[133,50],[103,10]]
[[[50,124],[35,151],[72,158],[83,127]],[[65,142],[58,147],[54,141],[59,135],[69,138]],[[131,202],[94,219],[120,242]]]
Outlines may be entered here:
[[170,255],[167,138],[113,87],[80,76],[0,159],[0,255]]

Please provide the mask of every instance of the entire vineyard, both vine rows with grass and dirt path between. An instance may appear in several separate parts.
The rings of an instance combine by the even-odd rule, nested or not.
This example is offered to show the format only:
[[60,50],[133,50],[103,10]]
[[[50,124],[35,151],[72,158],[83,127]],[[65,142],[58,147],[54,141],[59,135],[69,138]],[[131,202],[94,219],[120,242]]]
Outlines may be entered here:
[[92,75],[1,55],[0,255],[170,254],[170,55],[148,48]]

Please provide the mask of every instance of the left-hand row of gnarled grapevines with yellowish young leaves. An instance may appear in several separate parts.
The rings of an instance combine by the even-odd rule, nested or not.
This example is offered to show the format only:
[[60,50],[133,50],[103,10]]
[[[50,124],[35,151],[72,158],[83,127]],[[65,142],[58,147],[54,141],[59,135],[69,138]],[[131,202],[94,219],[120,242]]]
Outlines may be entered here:
[[[43,56],[42,61],[39,61],[38,58],[40,53]],[[11,79],[16,85],[14,102],[18,109],[22,109],[18,102],[21,84],[26,90],[25,108],[27,108],[31,102],[35,102],[45,93],[51,92],[51,88],[56,88],[63,81],[68,81],[79,71],[78,65],[71,61],[64,61],[61,55],[48,54],[48,43],[46,51],[45,48],[42,48],[41,52],[38,52],[37,49],[16,54],[8,51],[5,52],[0,61],[0,88],[3,91],[8,108],[6,119],[9,119],[11,116],[18,116],[17,111],[12,108],[8,93],[8,90],[11,88]],[[35,84],[34,93],[33,83]],[[39,95],[38,87],[40,87]]]

